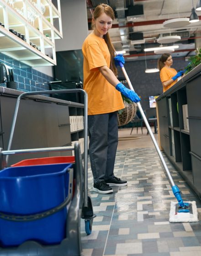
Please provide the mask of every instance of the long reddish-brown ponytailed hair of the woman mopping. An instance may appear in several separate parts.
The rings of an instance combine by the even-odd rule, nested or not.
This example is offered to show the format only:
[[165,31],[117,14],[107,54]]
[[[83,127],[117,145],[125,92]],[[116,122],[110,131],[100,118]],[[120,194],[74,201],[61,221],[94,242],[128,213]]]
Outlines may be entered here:
[[[110,16],[112,21],[115,18],[114,11],[109,5],[100,4],[95,7],[95,11],[93,13],[94,19],[97,19],[102,13],[105,13],[107,16]],[[95,25],[92,24],[92,29],[94,29]],[[106,41],[107,47],[109,49],[111,60],[110,60],[110,69],[113,71],[115,75],[117,75],[117,69],[115,67],[114,57],[115,57],[115,48],[111,43],[111,38],[109,33],[107,32],[106,35],[103,36]]]

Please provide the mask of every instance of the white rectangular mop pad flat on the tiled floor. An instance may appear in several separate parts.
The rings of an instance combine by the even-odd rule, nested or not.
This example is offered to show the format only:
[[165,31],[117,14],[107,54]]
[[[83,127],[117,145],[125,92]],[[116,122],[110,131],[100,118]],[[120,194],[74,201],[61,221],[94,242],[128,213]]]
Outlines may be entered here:
[[198,221],[196,201],[184,202],[184,203],[192,204],[193,213],[175,213],[175,208],[176,208],[177,203],[178,202],[171,202],[170,212],[169,212],[169,222],[196,222],[196,221]]

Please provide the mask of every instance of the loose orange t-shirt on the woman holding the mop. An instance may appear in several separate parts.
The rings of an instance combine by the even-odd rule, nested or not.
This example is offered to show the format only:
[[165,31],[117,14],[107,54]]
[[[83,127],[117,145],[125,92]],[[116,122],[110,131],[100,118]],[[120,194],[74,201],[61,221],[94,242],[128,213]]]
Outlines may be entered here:
[[99,67],[110,68],[110,52],[104,38],[91,33],[86,37],[84,57],[84,90],[88,94],[88,115],[106,114],[124,108],[121,93],[100,73]]

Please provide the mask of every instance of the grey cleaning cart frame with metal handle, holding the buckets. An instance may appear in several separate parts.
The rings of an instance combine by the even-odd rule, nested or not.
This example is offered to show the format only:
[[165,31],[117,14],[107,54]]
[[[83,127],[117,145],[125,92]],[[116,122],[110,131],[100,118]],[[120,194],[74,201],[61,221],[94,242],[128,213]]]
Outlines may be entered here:
[[[80,152],[79,143],[75,143],[74,147],[56,147],[56,148],[43,148],[43,149],[20,149],[10,150],[13,134],[16,125],[17,113],[20,105],[21,98],[30,95],[41,94],[54,94],[54,93],[73,93],[80,92],[84,95],[84,169],[82,165],[82,157]],[[0,161],[3,166],[4,156],[6,155],[5,163],[9,155],[21,153],[34,153],[34,152],[48,152],[48,151],[67,151],[74,150],[75,155],[75,172],[74,178],[76,186],[74,190],[74,197],[68,209],[68,216],[66,222],[66,238],[63,239],[59,245],[41,245],[36,241],[26,241],[18,247],[0,248],[0,256],[79,256],[81,255],[81,237],[80,237],[80,218],[90,221],[95,217],[90,195],[88,194],[88,118],[87,118],[87,93],[82,89],[66,89],[66,90],[51,90],[51,91],[36,91],[25,92],[17,98],[16,109],[11,126],[11,135],[7,151],[1,151]],[[84,178],[84,179],[83,179]],[[86,223],[85,223],[86,224]]]

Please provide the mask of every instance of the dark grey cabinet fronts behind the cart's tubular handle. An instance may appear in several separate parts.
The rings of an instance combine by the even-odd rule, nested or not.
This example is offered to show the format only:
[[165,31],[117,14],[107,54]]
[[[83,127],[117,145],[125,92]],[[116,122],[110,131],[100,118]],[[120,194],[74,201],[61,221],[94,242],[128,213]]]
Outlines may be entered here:
[[[43,96],[43,98],[45,98]],[[11,149],[34,149],[71,145],[69,106],[59,100],[36,100],[34,97],[20,101]],[[8,149],[17,96],[0,95],[0,146]],[[26,159],[63,155],[60,152],[26,154]],[[64,155],[72,155],[70,151]],[[11,165],[25,159],[24,155],[9,156]]]

